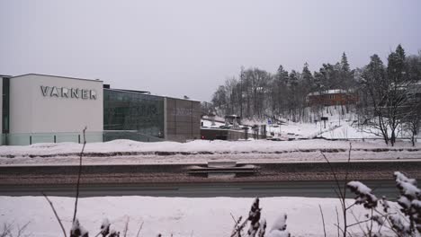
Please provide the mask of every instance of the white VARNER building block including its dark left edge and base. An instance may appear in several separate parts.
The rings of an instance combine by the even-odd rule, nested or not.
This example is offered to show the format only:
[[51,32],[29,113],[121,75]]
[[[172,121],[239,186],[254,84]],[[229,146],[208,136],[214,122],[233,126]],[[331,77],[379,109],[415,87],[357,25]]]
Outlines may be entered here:
[[[31,144],[59,142],[84,127],[103,131],[102,81],[29,74],[3,77],[0,85],[2,133],[10,134],[7,144],[23,145],[27,139]],[[3,102],[7,100],[8,105]],[[93,139],[101,140],[101,136]]]

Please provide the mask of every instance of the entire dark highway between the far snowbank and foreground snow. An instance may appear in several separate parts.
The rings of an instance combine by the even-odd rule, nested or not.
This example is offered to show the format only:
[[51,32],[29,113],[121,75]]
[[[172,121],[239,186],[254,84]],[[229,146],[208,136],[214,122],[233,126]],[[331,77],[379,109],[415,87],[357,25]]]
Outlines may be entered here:
[[[344,180],[345,171],[349,171],[348,180],[363,181],[379,198],[398,196],[394,171],[421,179],[419,161],[333,162],[331,165],[339,180]],[[111,164],[82,168],[81,197],[336,198],[335,177],[326,162],[254,163],[217,171],[228,172],[228,176],[196,173],[210,171],[207,164]],[[77,166],[0,167],[0,196],[39,196],[44,192],[49,196],[74,197],[78,170]],[[345,182],[340,182],[344,186]],[[348,197],[353,198],[352,194]]]

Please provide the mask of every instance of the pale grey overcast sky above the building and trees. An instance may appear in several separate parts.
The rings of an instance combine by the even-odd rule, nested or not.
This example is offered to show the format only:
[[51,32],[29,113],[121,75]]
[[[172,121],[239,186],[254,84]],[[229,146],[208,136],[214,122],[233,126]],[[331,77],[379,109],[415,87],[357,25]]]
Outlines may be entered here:
[[0,1],[0,74],[209,101],[240,66],[351,66],[421,49],[421,1]]

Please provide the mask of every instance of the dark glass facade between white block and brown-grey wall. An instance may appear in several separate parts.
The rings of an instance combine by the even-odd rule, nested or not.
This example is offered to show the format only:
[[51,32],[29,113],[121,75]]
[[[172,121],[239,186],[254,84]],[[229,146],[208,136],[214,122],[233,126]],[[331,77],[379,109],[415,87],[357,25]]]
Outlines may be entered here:
[[164,98],[103,89],[103,130],[131,130],[163,137]]

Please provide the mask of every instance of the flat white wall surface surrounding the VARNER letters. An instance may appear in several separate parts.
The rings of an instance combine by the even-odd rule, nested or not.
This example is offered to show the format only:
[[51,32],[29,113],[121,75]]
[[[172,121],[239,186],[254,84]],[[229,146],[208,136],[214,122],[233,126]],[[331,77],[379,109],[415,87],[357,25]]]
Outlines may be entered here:
[[[94,90],[96,99],[51,96],[52,88]],[[51,89],[50,89],[51,90]],[[70,97],[70,96],[68,96]],[[63,133],[103,130],[103,82],[50,75],[21,75],[10,79],[10,133]]]

